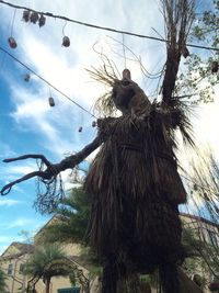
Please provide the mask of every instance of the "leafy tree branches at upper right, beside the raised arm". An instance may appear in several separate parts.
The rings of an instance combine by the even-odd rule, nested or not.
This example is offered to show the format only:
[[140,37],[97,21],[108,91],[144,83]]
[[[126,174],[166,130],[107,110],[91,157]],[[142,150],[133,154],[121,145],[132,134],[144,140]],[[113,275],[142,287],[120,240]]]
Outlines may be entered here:
[[[210,3],[211,2],[211,3]],[[219,3],[209,1],[210,10],[197,14],[189,43],[200,46],[219,47]],[[180,95],[193,94],[192,101],[212,102],[216,84],[219,81],[219,75],[211,72],[212,61],[219,60],[219,52],[194,49],[189,57],[186,58],[183,71],[176,82],[176,92]]]

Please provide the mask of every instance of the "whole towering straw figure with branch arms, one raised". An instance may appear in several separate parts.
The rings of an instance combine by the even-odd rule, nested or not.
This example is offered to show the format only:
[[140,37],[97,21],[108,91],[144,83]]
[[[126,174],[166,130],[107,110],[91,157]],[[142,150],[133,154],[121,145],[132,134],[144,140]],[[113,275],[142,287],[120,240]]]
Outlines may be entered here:
[[186,192],[177,172],[175,131],[180,129],[191,145],[193,139],[174,87],[194,2],[175,0],[174,9],[170,2],[162,1],[169,42],[160,102],[148,99],[128,69],[122,79],[108,74],[105,66],[92,70],[94,79],[111,87],[97,108],[105,114],[119,110],[122,115],[99,119],[96,138],[58,164],[50,164],[43,155],[4,160],[42,159],[46,169],[7,184],[1,194],[10,192],[15,183],[37,177],[48,187],[48,192],[38,198],[44,210],[56,201],[49,188],[59,172],[74,168],[100,147],[84,189],[92,201],[87,238],[103,264],[102,293],[116,293],[120,280],[155,269],[164,293],[180,292],[177,264],[184,259],[184,250],[178,204],[186,202]]

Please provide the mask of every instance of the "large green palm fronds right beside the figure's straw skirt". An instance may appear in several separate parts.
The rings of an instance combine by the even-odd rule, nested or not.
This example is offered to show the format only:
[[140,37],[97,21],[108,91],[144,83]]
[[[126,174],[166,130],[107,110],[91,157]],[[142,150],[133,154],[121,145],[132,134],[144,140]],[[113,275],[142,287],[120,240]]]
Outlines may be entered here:
[[56,210],[56,218],[45,227],[39,241],[45,244],[64,243],[80,244],[80,261],[89,266],[90,278],[101,274],[100,261],[92,249],[87,245],[87,232],[91,212],[91,202],[83,189],[74,188],[69,196],[64,199]]

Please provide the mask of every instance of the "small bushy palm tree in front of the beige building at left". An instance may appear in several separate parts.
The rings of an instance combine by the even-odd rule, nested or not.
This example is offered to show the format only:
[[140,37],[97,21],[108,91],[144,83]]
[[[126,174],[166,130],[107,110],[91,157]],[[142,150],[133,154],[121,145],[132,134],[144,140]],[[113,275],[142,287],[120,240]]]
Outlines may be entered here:
[[49,293],[50,280],[53,277],[66,277],[69,274],[69,271],[65,266],[51,267],[48,264],[54,260],[65,260],[66,253],[61,250],[60,246],[57,244],[49,244],[36,247],[33,255],[24,266],[24,274],[31,275],[32,280],[39,280],[43,278],[43,281],[46,285],[46,293]]

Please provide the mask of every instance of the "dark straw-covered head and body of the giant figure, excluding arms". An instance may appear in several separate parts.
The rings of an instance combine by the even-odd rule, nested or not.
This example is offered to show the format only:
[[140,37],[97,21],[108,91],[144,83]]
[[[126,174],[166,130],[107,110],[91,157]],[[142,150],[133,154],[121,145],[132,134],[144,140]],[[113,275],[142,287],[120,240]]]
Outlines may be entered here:
[[[119,277],[157,267],[174,280],[183,259],[177,205],[186,201],[173,151],[173,131],[183,127],[183,112],[151,103],[126,78],[115,82],[112,99],[123,115],[99,121],[103,145],[85,179],[93,207],[90,244],[105,261],[103,292],[116,292]],[[175,282],[170,292],[178,292]]]

